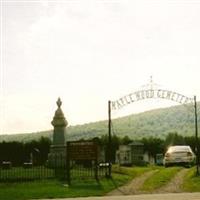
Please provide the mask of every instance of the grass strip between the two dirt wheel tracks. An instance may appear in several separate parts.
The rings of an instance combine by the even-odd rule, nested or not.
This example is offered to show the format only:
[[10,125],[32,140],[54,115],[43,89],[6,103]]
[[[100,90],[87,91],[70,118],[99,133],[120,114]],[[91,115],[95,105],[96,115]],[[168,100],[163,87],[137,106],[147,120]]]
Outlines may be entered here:
[[182,169],[181,167],[158,167],[157,172],[144,182],[141,190],[151,192],[167,184],[175,174]]

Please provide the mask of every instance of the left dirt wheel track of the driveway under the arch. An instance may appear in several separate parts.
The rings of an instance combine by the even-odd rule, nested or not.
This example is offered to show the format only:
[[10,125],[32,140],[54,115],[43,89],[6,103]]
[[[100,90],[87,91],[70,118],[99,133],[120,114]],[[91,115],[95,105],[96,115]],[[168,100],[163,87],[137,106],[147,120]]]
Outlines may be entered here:
[[144,181],[151,177],[158,170],[152,170],[150,172],[146,172],[139,177],[134,178],[130,183],[119,187],[111,192],[109,192],[108,196],[116,196],[116,195],[131,195],[131,194],[140,194],[140,188],[142,187]]

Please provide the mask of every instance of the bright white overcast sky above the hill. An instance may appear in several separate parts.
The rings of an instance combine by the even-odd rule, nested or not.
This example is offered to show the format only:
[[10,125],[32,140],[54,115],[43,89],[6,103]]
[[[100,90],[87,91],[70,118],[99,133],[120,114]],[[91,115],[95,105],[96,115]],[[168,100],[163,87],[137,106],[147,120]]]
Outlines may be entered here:
[[[200,99],[198,0],[1,0],[0,127],[107,119],[107,101],[155,82]],[[172,105],[132,104],[115,116]]]

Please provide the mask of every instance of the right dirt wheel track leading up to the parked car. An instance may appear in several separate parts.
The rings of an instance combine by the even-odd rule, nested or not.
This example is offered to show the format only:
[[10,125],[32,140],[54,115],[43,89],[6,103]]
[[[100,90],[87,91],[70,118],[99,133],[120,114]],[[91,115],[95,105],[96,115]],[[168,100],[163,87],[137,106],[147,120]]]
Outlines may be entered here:
[[165,186],[155,190],[153,193],[177,193],[182,192],[181,186],[183,179],[189,169],[182,169],[179,171],[175,177]]

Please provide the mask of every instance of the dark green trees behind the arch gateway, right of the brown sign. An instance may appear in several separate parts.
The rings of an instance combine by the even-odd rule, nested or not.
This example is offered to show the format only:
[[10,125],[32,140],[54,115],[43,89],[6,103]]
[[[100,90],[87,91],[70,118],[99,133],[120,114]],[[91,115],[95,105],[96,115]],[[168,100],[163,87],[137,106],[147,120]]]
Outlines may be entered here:
[[144,137],[139,140],[130,139],[129,136],[124,136],[123,138],[113,135],[111,138],[111,145],[109,145],[108,136],[104,135],[101,138],[94,138],[100,146],[105,147],[105,157],[106,160],[109,160],[111,155],[111,161],[115,163],[115,154],[119,145],[128,145],[133,141],[138,141],[143,143],[144,152],[147,152],[156,160],[156,154],[163,154],[166,152],[169,146],[172,145],[189,145],[193,152],[196,153],[196,143],[200,146],[200,140],[196,141],[194,136],[182,136],[177,132],[168,133],[165,139],[158,137]]

